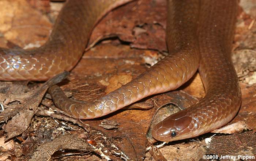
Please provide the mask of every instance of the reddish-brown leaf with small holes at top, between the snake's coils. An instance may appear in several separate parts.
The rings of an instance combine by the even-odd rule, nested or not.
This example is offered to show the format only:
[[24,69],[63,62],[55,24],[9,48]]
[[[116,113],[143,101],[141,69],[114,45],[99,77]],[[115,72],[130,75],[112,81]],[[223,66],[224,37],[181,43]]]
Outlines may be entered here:
[[114,9],[100,21],[91,35],[89,44],[98,41],[102,35],[112,34],[122,41],[132,42],[131,47],[134,48],[167,51],[165,20],[165,0],[134,1]]

